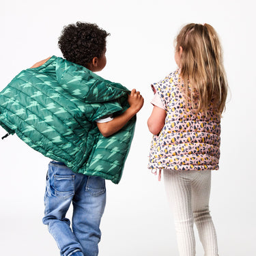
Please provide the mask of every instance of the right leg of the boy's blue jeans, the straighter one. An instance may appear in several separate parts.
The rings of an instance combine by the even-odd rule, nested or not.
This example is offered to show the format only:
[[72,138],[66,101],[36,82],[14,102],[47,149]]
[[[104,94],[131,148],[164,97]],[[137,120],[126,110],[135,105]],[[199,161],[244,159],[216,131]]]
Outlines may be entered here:
[[98,255],[100,221],[106,204],[105,180],[89,176],[73,198],[72,230],[86,256]]

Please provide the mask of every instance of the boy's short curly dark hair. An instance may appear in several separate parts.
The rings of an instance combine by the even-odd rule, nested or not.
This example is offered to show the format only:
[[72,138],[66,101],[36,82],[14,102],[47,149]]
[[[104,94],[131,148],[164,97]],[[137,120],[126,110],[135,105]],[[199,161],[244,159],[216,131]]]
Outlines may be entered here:
[[58,46],[65,59],[85,67],[102,56],[108,35],[96,24],[77,22],[63,28]]

